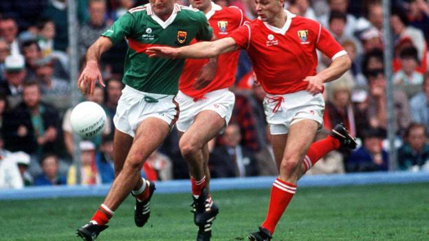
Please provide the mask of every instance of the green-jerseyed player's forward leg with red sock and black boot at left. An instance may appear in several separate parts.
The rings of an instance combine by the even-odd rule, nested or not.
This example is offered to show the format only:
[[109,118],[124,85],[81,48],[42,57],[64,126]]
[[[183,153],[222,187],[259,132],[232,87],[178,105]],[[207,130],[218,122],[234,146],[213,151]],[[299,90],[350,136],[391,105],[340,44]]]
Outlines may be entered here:
[[[157,130],[157,131],[153,131]],[[93,218],[91,218],[91,227],[84,227],[78,229],[78,235],[82,238],[90,238],[94,240],[96,237],[87,237],[89,233],[93,233],[98,229],[96,234],[107,228],[107,222],[113,216],[115,209],[119,207],[122,201],[129,195],[133,187],[139,179],[141,179],[140,171],[142,165],[148,156],[164,141],[168,135],[170,126],[161,119],[149,117],[137,127],[133,144],[129,150],[128,155],[124,161],[122,170],[116,176],[112,183],[111,189],[104,199],[104,203],[100,206]]]

